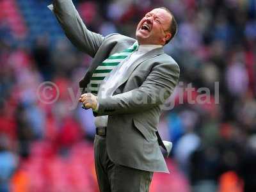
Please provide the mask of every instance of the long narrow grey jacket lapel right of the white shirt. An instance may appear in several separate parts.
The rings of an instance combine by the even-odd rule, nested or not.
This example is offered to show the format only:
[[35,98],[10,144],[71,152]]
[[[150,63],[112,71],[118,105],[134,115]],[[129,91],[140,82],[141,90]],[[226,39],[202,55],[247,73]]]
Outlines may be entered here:
[[127,81],[129,79],[129,77],[131,76],[132,72],[135,70],[136,67],[138,67],[138,65],[140,65],[141,63],[143,63],[144,61],[147,61],[151,58],[156,57],[159,54],[163,54],[163,48],[157,48],[157,49],[153,49],[152,51],[147,52],[146,54],[144,54],[143,56],[141,56],[140,58],[138,58],[136,61],[134,61],[134,63],[132,63],[132,65],[128,68],[127,72],[125,73],[124,78],[120,79],[118,81],[118,84],[116,86],[116,88],[118,88],[121,84],[125,83],[125,81]]

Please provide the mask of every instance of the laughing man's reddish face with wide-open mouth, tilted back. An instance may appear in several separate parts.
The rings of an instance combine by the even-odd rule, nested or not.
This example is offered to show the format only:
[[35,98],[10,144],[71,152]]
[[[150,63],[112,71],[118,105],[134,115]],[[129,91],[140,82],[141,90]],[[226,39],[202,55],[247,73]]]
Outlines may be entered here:
[[172,16],[166,10],[157,8],[148,12],[139,22],[136,38],[139,44],[164,45],[171,38],[168,28]]

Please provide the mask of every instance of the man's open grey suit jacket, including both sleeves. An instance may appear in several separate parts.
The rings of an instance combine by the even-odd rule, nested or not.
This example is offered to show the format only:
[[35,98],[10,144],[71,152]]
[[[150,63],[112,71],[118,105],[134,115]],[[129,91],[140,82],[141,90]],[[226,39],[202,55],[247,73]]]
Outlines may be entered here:
[[[93,70],[111,54],[131,46],[135,39],[111,34],[106,37],[89,31],[72,0],[55,0],[54,14],[69,40],[92,56],[79,85],[86,92]],[[98,96],[95,116],[108,115],[106,136],[109,158],[114,163],[151,172],[167,172],[157,138],[161,105],[170,97],[179,80],[179,66],[162,48],[147,52],[129,68],[112,96]]]

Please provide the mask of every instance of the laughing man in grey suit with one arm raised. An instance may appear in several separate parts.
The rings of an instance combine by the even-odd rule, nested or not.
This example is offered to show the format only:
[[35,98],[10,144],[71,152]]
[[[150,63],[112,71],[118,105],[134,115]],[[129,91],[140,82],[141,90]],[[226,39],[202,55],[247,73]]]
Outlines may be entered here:
[[55,0],[52,8],[70,41],[94,58],[80,81],[79,101],[96,116],[100,191],[148,191],[153,172],[168,173],[157,124],[161,105],[179,80],[179,66],[163,51],[177,31],[172,13],[148,12],[135,40],[89,31],[72,0]]

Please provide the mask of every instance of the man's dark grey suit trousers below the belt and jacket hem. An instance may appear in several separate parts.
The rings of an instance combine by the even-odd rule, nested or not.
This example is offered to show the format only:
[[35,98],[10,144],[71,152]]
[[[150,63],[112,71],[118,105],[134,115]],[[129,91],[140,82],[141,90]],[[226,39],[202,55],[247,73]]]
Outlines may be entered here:
[[153,172],[113,163],[108,156],[106,138],[94,140],[95,169],[100,192],[148,192]]

